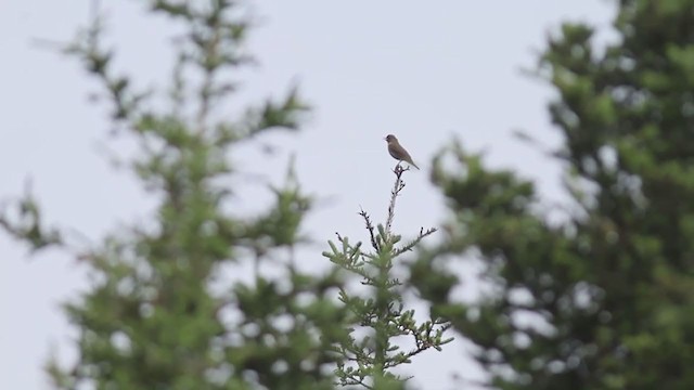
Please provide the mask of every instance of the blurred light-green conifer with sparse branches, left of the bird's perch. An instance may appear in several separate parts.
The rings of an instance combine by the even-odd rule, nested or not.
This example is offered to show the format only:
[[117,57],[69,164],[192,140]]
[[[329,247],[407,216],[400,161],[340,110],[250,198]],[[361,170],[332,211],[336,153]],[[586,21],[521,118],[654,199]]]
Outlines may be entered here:
[[[291,91],[237,120],[215,114],[234,92],[230,70],[250,60],[243,44],[250,22],[240,3],[149,1],[184,27],[166,109],[152,99],[162,91],[138,91],[114,72],[98,15],[64,47],[103,84],[119,133],[140,146],[132,169],[158,204],[151,222],[89,248],[47,229],[30,193],[0,216],[34,249],[60,246],[89,268],[91,287],[65,306],[78,358],[48,364],[57,388],[334,387],[342,358],[333,346],[348,339],[347,311],[336,300],[343,282],[336,270],[294,266],[311,198],[290,169],[285,185],[270,187],[269,208],[241,217],[233,190],[221,185],[239,174],[228,158],[237,143],[297,130],[307,110]],[[273,276],[261,272],[268,263]]]

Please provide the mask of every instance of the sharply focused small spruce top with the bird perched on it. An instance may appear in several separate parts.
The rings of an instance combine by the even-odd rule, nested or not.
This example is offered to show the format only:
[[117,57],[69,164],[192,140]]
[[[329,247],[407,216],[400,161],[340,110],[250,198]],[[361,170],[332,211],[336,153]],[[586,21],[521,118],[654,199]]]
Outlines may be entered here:
[[[338,266],[358,275],[365,287],[361,291],[343,287],[339,292],[339,300],[355,323],[349,329],[349,339],[336,348],[344,358],[336,372],[343,386],[402,389],[409,377],[393,374],[394,367],[411,363],[412,356],[430,348],[440,351],[441,346],[452,341],[452,338],[444,339],[444,333],[450,327],[447,321],[433,317],[417,323],[414,310],[406,310],[403,296],[409,286],[395,276],[396,265],[403,263],[402,255],[436,232],[436,229],[422,227],[414,239],[404,244],[400,244],[402,237],[393,232],[396,200],[404,190],[406,171],[400,164],[394,169],[396,179],[385,224],[374,226],[364,210],[359,212],[369,232],[371,250],[365,250],[361,242],[351,244],[348,237],[337,233],[339,245],[330,242],[331,251],[323,252]],[[414,347],[402,351],[403,338],[410,339]]]

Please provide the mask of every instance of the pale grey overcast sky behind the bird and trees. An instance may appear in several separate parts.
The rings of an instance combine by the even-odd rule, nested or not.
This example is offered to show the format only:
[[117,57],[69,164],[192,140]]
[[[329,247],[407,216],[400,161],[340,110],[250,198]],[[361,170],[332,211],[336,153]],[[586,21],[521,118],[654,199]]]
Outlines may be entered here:
[[[142,86],[165,84],[166,23],[146,17],[138,1],[103,3],[118,68]],[[395,229],[406,237],[445,218],[428,169],[453,135],[471,150],[487,150],[492,166],[536,180],[548,199],[562,199],[557,167],[510,135],[520,128],[550,145],[560,140],[545,109],[552,91],[520,69],[534,67],[561,21],[608,28],[612,2],[275,0],[254,10],[262,23],[250,49],[261,66],[241,75],[241,101],[279,95],[298,82],[314,110],[299,135],[262,139],[278,150],[272,158],[257,144],[235,157],[241,169],[277,180],[290,153],[297,154],[301,183],[322,200],[306,225],[314,255],[301,261],[325,262],[320,251],[335,231],[364,239],[359,207],[384,218],[394,166],[383,141],[388,133],[422,168],[408,173],[398,204]],[[153,203],[106,158],[128,144],[108,138],[105,109],[89,103],[98,91],[93,80],[75,61],[33,44],[34,38],[68,40],[88,15],[86,0],[0,0],[0,199],[20,194],[30,177],[49,222],[98,240],[145,219]],[[258,208],[262,199],[246,196],[239,207]],[[64,255],[26,255],[0,235],[2,389],[49,388],[42,365],[50,348],[69,359],[75,336],[59,304],[87,285],[83,270]],[[452,372],[481,378],[464,342],[447,347],[407,367],[416,385],[446,388]]]

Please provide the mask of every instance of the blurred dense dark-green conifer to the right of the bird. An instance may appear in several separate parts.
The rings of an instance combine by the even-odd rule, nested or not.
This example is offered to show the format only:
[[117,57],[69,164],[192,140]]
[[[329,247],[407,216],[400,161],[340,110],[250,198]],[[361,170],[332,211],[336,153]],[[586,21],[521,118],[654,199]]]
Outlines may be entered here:
[[[561,221],[460,145],[435,168],[451,217],[411,281],[492,387],[694,388],[694,1],[616,3],[609,43],[565,24],[541,56],[573,200]],[[451,292],[460,256],[484,264],[472,303]]]

